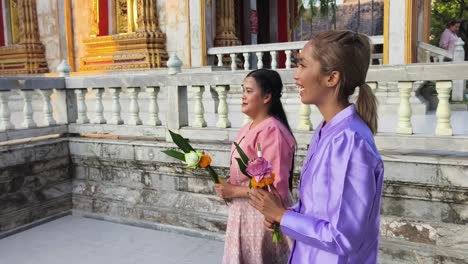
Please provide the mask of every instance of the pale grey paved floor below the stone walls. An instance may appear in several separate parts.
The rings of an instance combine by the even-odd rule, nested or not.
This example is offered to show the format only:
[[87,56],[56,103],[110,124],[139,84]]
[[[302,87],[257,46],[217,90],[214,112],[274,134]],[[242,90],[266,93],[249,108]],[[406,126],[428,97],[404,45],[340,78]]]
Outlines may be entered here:
[[218,264],[222,255],[222,241],[78,216],[0,240],[0,264]]

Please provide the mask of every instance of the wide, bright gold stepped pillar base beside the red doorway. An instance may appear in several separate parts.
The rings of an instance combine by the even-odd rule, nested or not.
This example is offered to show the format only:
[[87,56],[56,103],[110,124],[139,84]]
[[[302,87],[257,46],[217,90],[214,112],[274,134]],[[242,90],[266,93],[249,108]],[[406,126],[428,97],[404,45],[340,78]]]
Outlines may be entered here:
[[119,34],[85,39],[87,54],[80,61],[80,71],[165,67],[166,36],[159,29],[156,0],[118,0],[117,8]]

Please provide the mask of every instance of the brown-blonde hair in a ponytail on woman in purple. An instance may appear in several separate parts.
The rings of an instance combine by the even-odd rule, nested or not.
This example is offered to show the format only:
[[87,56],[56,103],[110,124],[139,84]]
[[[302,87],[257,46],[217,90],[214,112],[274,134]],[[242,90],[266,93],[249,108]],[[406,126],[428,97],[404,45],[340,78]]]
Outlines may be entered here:
[[320,62],[322,73],[340,73],[340,102],[348,103],[359,87],[356,110],[372,133],[377,133],[377,98],[366,84],[371,55],[369,37],[349,30],[326,31],[318,33],[310,43],[314,46],[312,56]]

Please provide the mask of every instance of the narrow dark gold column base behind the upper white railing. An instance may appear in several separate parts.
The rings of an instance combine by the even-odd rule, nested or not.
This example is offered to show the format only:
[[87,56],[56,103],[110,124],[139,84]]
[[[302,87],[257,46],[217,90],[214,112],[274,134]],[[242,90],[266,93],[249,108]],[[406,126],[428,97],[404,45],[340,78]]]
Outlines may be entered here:
[[234,0],[216,1],[216,37],[217,47],[241,45],[236,36],[234,18]]

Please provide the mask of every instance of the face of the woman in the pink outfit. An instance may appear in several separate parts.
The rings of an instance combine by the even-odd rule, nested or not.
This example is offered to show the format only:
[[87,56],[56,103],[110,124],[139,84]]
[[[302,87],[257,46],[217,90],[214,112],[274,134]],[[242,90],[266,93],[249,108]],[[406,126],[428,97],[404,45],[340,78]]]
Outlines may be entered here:
[[253,77],[247,77],[242,85],[242,113],[254,118],[258,113],[268,112],[271,95],[263,94]]

